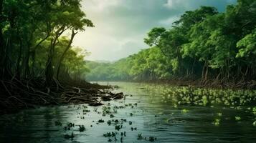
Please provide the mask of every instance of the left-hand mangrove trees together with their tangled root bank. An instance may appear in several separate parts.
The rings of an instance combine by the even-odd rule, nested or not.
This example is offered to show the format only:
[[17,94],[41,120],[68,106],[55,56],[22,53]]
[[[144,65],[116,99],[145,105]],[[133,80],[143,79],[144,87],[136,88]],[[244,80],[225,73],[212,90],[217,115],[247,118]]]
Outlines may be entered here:
[[0,0],[0,112],[98,104],[101,87],[81,80],[87,52],[72,46],[77,32],[94,26],[80,1]]

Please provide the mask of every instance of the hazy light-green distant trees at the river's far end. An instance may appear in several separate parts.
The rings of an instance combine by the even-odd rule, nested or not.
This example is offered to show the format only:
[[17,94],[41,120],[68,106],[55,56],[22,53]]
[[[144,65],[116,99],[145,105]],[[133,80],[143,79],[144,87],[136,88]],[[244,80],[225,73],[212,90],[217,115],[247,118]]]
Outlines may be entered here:
[[171,76],[172,67],[158,48],[142,50],[115,63],[87,61],[87,66],[91,72],[86,77],[93,81],[166,79]]

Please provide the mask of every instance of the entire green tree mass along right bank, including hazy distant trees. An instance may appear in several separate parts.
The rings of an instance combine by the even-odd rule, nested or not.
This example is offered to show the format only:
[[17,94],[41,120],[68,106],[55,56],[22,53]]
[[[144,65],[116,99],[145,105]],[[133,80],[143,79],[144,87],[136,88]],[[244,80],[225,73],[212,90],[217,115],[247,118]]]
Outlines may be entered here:
[[186,11],[171,29],[153,28],[153,46],[114,64],[102,64],[90,80],[200,80],[255,85],[256,1],[238,0],[220,13],[201,6]]

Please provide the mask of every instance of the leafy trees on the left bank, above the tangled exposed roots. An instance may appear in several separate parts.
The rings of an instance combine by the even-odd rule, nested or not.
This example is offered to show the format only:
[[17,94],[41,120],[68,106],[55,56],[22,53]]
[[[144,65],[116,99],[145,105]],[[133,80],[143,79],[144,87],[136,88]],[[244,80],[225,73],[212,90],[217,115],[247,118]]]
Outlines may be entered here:
[[72,41],[93,26],[80,0],[0,0],[0,79],[82,78],[87,52]]

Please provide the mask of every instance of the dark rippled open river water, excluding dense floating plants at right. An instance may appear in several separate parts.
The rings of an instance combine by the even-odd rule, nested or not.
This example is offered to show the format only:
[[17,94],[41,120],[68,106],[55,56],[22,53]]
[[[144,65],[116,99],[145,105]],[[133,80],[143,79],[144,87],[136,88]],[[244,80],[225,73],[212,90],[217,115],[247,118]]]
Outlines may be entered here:
[[[117,84],[120,89],[116,92],[124,92],[128,96],[122,100],[105,102],[104,107],[87,107],[87,105],[41,107],[25,110],[19,114],[1,116],[0,142],[96,143],[108,142],[109,139],[112,142],[121,142],[121,137],[122,142],[127,143],[150,142],[149,137],[151,141],[154,140],[153,142],[256,142],[256,127],[252,125],[256,119],[253,114],[244,110],[250,107],[242,107],[242,109],[191,105],[174,107],[157,94],[160,89],[152,87],[155,85],[125,82],[110,84]],[[148,86],[155,89],[154,94],[147,89]],[[103,116],[103,108],[110,108],[108,111],[114,117],[110,118],[110,114]],[[90,112],[83,114],[85,109]],[[236,120],[235,117],[238,116],[241,119]],[[98,123],[99,119],[103,119],[104,122]],[[111,122],[108,125],[108,120],[113,119],[118,119],[118,123]],[[55,122],[61,122],[62,125],[56,125]],[[65,131],[64,127],[68,123],[74,123],[75,127]],[[79,125],[85,126],[84,132],[79,131]],[[118,131],[115,129],[116,125],[122,125],[122,128]],[[65,134],[72,132],[75,137],[65,139]],[[107,132],[115,132],[116,135],[103,137]],[[121,132],[125,132],[125,136]],[[141,134],[141,139],[138,139],[138,134]]]

